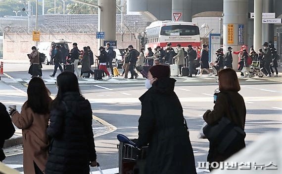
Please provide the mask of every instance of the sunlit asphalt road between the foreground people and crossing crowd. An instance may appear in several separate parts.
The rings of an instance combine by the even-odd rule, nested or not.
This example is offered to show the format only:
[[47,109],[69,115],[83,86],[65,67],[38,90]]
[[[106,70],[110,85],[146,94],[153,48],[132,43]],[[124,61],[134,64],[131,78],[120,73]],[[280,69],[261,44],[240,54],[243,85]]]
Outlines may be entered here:
[[[14,78],[29,77],[26,70],[21,70],[23,66],[15,65],[10,69],[14,68],[19,71],[9,71],[7,74]],[[259,139],[264,133],[282,128],[281,78],[247,82],[246,79],[240,79],[239,93],[244,97],[247,108],[246,145]],[[97,160],[102,169],[118,167],[117,134],[124,134],[130,138],[138,136],[138,119],[141,114],[141,103],[138,98],[146,91],[143,82],[80,85],[83,96],[92,104],[94,115],[117,127],[116,131],[95,138]],[[55,96],[57,89],[54,83],[47,84],[47,87]],[[175,87],[187,119],[196,164],[206,161],[209,143],[207,139],[198,139],[197,134],[203,124],[203,113],[213,108],[215,88],[217,88],[215,80],[208,78],[197,82],[182,82]],[[7,157],[4,162],[22,164],[22,155]]]

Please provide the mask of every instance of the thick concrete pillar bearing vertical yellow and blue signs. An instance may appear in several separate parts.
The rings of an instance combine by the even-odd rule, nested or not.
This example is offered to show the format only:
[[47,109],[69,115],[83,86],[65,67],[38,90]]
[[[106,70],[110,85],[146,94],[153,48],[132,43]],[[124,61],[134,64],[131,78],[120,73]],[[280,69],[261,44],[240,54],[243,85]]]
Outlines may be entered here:
[[[233,38],[229,38],[228,24],[233,25]],[[244,45],[247,45],[248,0],[223,0],[223,51],[231,46],[233,51],[241,49],[238,44],[238,24],[244,27]],[[232,42],[233,40],[233,42]],[[233,68],[237,70],[238,55],[233,55]]]

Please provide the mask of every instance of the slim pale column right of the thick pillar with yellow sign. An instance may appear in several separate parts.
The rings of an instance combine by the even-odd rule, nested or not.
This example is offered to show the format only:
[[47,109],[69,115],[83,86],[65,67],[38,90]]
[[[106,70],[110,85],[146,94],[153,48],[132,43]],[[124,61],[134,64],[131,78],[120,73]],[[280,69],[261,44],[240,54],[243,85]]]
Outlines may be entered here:
[[254,0],[254,50],[262,48],[262,8],[263,0]]

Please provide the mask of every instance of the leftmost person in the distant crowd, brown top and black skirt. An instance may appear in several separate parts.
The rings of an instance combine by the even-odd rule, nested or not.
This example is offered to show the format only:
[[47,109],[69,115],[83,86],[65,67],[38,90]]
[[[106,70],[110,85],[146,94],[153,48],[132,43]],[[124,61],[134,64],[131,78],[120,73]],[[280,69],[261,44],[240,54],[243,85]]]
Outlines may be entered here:
[[31,74],[31,78],[41,76],[42,73],[40,72],[40,60],[39,60],[39,52],[35,46],[32,48],[32,52],[28,55],[29,61],[30,61],[30,68],[29,68],[29,74]]

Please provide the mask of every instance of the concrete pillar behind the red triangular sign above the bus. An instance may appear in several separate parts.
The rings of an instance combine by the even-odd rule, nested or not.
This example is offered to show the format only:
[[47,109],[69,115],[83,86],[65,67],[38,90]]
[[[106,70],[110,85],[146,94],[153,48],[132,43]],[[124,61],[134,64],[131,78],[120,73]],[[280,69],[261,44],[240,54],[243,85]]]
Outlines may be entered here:
[[175,21],[173,13],[182,13],[179,21],[192,22],[192,0],[172,0],[171,19]]

